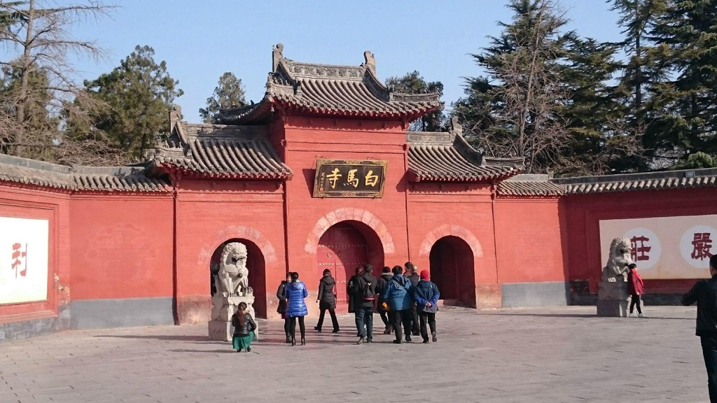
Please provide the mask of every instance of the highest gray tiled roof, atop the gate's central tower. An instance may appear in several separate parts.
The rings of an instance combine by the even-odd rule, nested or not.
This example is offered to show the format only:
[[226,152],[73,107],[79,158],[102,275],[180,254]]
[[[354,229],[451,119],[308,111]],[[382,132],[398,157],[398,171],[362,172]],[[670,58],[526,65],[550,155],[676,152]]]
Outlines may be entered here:
[[222,123],[265,120],[278,108],[320,115],[394,117],[414,120],[442,108],[440,94],[395,93],[376,77],[374,57],[365,52],[360,66],[318,65],[295,62],[274,49],[274,68],[260,103],[222,111]]

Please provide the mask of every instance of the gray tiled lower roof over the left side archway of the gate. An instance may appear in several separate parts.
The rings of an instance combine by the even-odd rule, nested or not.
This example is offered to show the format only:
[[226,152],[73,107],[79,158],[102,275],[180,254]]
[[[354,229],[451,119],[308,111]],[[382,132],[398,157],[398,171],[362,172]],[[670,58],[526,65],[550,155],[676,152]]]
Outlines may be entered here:
[[176,121],[170,141],[152,159],[184,174],[242,179],[292,175],[266,137],[265,126],[202,125]]

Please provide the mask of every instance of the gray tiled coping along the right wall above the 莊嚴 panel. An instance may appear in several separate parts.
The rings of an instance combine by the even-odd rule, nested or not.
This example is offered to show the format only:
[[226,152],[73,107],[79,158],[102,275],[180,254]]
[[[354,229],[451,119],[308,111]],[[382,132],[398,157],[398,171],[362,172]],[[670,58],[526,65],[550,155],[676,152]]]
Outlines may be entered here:
[[604,176],[552,179],[565,187],[566,194],[612,193],[657,189],[717,187],[717,169],[687,169]]

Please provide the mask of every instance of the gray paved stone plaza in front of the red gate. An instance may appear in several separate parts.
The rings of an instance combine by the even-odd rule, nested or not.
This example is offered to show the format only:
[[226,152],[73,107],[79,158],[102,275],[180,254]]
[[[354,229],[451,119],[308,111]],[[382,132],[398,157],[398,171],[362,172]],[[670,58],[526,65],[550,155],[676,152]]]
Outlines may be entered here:
[[[0,402],[707,402],[694,307],[443,309],[438,343],[356,346],[353,320],[252,353],[206,326],[67,331],[0,343]],[[376,321],[380,321],[376,316]]]

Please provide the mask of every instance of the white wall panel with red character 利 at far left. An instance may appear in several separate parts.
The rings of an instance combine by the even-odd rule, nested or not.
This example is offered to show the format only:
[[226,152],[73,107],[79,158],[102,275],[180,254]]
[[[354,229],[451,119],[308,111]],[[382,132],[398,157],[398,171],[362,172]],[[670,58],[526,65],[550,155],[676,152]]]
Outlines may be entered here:
[[0,217],[0,304],[47,299],[47,219]]

